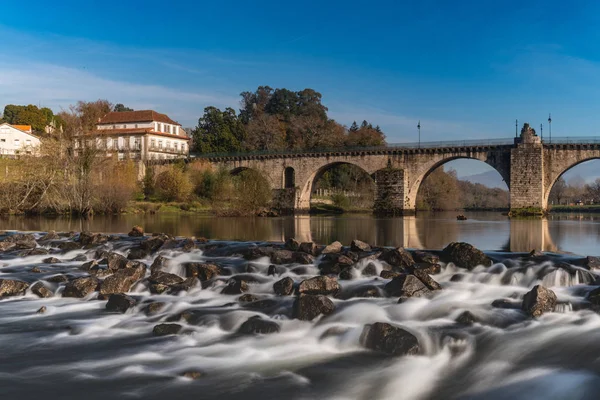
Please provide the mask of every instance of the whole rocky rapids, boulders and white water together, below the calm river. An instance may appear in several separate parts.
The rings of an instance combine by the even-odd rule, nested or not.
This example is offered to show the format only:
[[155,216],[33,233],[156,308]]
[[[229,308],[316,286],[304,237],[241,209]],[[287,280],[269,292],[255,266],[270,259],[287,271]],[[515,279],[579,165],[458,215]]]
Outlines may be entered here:
[[517,378],[597,393],[523,373],[594,370],[596,258],[140,229],[10,233],[0,254],[12,398],[489,399]]

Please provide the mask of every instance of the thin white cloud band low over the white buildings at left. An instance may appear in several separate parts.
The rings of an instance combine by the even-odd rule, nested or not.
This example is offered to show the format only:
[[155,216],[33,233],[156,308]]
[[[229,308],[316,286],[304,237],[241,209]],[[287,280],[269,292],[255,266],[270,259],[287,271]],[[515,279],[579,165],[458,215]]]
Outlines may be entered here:
[[208,105],[236,107],[239,103],[234,96],[111,80],[86,69],[8,62],[0,62],[0,93],[6,103],[34,103],[55,111],[78,100],[107,99],[135,109],[156,109],[184,125],[195,124]]

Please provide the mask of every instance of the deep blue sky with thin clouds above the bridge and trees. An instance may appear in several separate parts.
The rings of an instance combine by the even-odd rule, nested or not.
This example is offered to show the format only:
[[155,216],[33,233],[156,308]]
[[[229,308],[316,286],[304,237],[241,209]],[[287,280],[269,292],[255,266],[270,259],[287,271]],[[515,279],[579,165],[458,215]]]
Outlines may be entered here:
[[600,135],[600,3],[6,2],[0,107],[107,98],[194,126],[259,85],[323,94],[389,142]]

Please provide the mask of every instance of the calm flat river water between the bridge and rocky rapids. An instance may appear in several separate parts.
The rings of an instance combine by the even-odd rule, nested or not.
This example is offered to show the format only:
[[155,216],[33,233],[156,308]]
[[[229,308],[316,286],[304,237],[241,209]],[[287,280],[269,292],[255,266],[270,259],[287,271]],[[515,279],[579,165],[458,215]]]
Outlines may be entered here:
[[371,215],[290,216],[234,218],[209,215],[96,216],[88,220],[7,217],[0,229],[20,231],[128,232],[142,225],[147,232],[222,240],[301,241],[349,244],[361,239],[381,246],[441,249],[452,241],[469,242],[484,250],[532,249],[600,255],[600,215],[560,214],[548,219],[509,220],[499,212],[467,212],[457,221],[456,212],[420,213],[417,216],[376,218]]

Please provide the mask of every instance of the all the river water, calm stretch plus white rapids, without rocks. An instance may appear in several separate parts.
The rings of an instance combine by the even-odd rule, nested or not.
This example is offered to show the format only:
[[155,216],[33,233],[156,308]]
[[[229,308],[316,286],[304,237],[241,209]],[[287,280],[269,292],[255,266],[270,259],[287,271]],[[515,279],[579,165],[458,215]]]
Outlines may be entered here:
[[[39,253],[49,254],[0,253],[0,279],[42,281],[53,296],[38,298],[30,287],[0,300],[0,394],[14,399],[597,399],[600,316],[586,300],[597,272],[565,253],[599,255],[600,224],[591,216],[546,221],[467,216],[468,221],[440,214],[388,220],[4,220],[4,229],[40,231],[35,233]],[[98,292],[83,299],[62,297],[65,283],[56,282],[57,275],[86,276],[82,264],[104,257],[98,249],[127,256],[142,239],[121,234],[91,248],[59,250],[60,243],[77,236],[42,241],[41,232],[123,233],[135,223],[147,231],[219,239],[191,251],[164,246],[139,261],[150,266],[162,255],[163,270],[183,278],[185,263],[211,262],[221,275],[172,294],[153,294],[147,278],[141,279],[129,291],[137,305],[125,313],[106,311]],[[486,250],[494,263],[467,270],[440,262],[441,271],[431,276],[442,290],[398,303],[383,291],[389,279],[378,276],[388,265],[365,257],[352,266],[353,279],[340,280],[340,293],[329,296],[335,311],[301,321],[293,318],[295,296],[276,296],[273,284],[290,277],[297,285],[319,275],[323,256],[306,265],[280,262],[275,275],[268,274],[269,257],[240,256],[288,235],[346,245],[358,237],[378,246],[429,249],[460,240]],[[532,249],[556,254],[509,253]],[[50,256],[58,260],[49,263]],[[244,303],[240,295],[221,294],[236,276],[248,282],[246,294],[269,302]],[[556,293],[557,306],[534,319],[520,306],[537,284]],[[367,288],[382,297],[359,297]],[[492,306],[500,299],[501,307]],[[165,305],[149,314],[144,308],[150,301]],[[46,311],[36,313],[41,307]],[[475,316],[474,324],[455,322],[464,311]],[[279,332],[237,333],[257,315],[279,325]],[[366,349],[364,334],[375,322],[415,335],[421,353],[392,357]],[[183,328],[177,335],[154,336],[160,323]],[[183,376],[190,371],[197,379]]]

